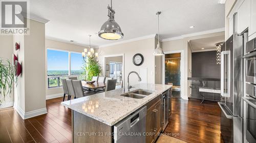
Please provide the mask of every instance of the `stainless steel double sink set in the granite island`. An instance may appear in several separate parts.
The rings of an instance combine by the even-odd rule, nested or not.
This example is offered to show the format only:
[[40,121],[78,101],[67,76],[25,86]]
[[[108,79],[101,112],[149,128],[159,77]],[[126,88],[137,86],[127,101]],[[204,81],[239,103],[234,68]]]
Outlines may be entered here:
[[129,93],[121,94],[121,96],[141,99],[141,98],[145,98],[148,95],[151,95],[152,93],[153,92],[151,92],[151,91],[138,89],[138,90],[135,90],[135,91],[131,91]]

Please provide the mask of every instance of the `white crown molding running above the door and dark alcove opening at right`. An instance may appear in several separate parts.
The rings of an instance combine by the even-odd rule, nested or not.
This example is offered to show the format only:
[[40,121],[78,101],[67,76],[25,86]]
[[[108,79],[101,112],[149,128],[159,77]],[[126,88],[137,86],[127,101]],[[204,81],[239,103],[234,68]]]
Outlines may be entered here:
[[181,35],[181,36],[177,36],[177,37],[166,38],[166,39],[163,39],[161,42],[179,40],[179,39],[183,39],[183,38],[186,38],[186,37],[193,37],[193,36],[199,36],[199,35],[211,34],[211,33],[223,32],[223,31],[225,31],[225,27],[217,28],[217,29],[214,29],[214,30],[197,32],[197,33],[185,34],[185,35]]

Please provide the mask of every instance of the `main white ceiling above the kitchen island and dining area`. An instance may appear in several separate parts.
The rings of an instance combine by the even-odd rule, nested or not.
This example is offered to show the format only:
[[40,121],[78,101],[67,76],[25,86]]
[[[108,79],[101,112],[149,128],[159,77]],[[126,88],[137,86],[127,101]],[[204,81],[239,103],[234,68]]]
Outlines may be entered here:
[[[157,33],[157,11],[160,15],[161,39],[190,33],[214,30],[225,26],[225,6],[218,0],[113,0],[115,20],[121,26],[124,38],[118,41],[98,37],[101,25],[108,19],[110,0],[33,0],[30,12],[50,20],[46,37],[74,40],[74,43],[95,46]],[[194,25],[194,28],[189,26]]]

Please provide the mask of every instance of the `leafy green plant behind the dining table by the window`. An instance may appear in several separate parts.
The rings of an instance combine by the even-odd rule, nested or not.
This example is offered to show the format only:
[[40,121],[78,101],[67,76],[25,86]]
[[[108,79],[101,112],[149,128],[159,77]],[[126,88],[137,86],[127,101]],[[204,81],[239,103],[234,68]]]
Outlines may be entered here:
[[83,75],[86,78],[86,80],[91,81],[93,76],[99,76],[102,69],[97,61],[94,54],[88,55],[87,58],[84,58],[83,63]]

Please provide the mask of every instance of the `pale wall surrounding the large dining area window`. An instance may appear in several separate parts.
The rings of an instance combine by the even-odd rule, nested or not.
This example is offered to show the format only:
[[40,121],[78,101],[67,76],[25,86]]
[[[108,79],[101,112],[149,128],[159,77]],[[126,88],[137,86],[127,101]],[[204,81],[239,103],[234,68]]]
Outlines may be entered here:
[[[69,44],[69,43],[64,43],[64,42],[59,42],[59,41],[54,41],[54,40],[49,40],[49,39],[45,39],[45,43],[46,43],[46,74],[45,74],[45,80],[46,80],[46,96],[61,96],[63,93],[62,87],[59,88],[51,88],[48,89],[48,79],[47,79],[47,48],[52,48],[52,49],[59,49],[59,50],[68,50],[68,51],[75,51],[75,52],[83,52],[84,48],[87,47],[83,47],[83,46],[78,46],[78,45],[74,45],[74,44]],[[87,48],[88,51],[89,48]],[[97,49],[95,49],[95,52],[97,52]]]

